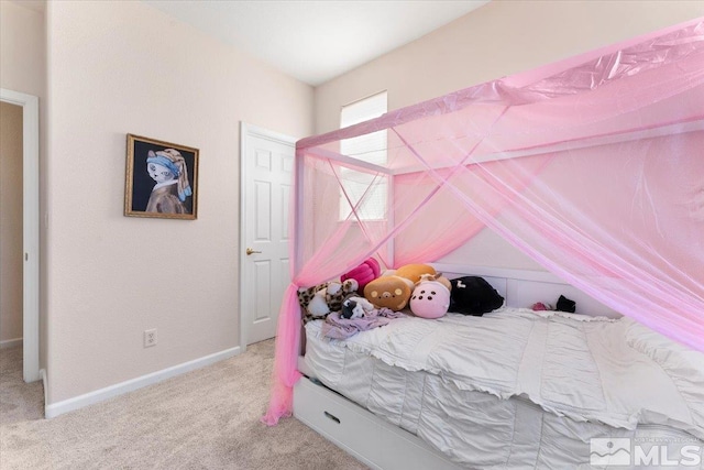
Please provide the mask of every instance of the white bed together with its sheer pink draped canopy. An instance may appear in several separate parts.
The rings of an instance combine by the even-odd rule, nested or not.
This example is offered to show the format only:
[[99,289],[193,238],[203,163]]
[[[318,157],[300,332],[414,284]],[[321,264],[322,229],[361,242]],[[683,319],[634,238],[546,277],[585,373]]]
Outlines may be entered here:
[[[370,135],[378,147],[350,144]],[[382,469],[702,468],[702,149],[704,19],[297,142],[263,420],[293,411]],[[546,272],[452,258],[485,228]],[[482,276],[508,309],[301,331],[298,288],[370,256]],[[561,294],[578,317],[526,310]],[[469,330],[446,345],[424,339],[435,327]]]

